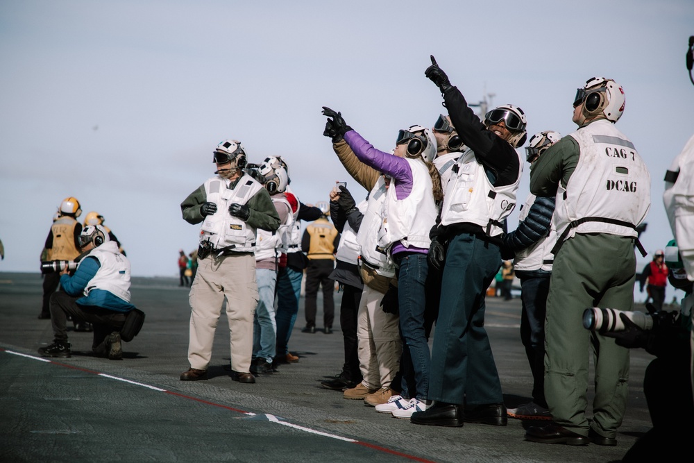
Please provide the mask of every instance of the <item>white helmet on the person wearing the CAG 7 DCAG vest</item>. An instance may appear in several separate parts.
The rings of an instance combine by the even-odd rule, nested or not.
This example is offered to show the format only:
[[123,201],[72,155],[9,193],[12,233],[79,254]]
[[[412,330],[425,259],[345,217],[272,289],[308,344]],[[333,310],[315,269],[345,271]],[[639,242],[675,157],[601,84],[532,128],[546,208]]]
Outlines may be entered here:
[[586,85],[576,90],[573,107],[581,103],[585,103],[584,117],[602,114],[608,121],[616,122],[624,112],[624,90],[610,78],[592,77],[586,81]]

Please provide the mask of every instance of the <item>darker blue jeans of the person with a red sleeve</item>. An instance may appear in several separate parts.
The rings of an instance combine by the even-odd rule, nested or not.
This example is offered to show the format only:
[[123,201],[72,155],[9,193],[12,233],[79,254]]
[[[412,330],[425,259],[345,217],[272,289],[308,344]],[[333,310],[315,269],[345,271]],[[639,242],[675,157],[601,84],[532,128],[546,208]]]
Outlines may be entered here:
[[299,311],[301,297],[301,279],[303,271],[291,267],[281,267],[277,275],[277,355],[289,353],[289,337],[294,329],[296,314]]

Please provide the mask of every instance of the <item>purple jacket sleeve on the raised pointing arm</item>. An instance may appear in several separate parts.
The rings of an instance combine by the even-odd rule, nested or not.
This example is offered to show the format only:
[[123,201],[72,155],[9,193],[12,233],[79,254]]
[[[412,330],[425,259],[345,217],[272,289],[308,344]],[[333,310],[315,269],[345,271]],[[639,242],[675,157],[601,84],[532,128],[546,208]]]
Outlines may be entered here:
[[375,149],[356,131],[347,132],[344,138],[360,161],[395,180],[395,192],[398,199],[409,196],[412,192],[412,169],[409,167],[409,162]]

